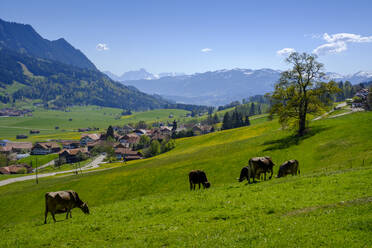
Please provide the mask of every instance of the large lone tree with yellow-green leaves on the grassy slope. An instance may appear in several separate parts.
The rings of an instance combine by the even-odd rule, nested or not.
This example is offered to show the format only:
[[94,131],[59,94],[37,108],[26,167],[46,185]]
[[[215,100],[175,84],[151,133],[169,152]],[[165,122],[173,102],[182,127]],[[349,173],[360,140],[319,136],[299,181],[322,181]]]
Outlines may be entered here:
[[[319,113],[329,104],[326,95],[338,92],[335,82],[324,83],[323,64],[315,55],[294,52],[286,58],[291,69],[281,73],[271,94],[271,114],[278,114],[279,122],[288,126],[294,122],[299,136],[306,132],[307,115]],[[326,99],[326,100],[325,100]]]

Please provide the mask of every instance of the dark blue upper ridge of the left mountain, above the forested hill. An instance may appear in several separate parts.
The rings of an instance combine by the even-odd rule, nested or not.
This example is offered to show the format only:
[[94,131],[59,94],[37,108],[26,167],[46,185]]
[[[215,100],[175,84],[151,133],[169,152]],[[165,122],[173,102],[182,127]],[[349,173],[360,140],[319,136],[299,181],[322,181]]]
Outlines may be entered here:
[[6,22],[0,19],[0,47],[80,68],[96,70],[95,65],[66,40],[63,38],[55,41],[44,39],[31,25]]

